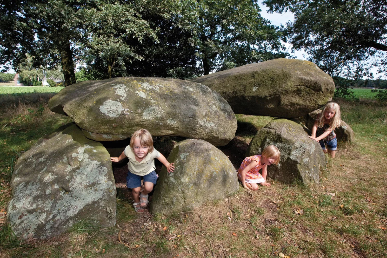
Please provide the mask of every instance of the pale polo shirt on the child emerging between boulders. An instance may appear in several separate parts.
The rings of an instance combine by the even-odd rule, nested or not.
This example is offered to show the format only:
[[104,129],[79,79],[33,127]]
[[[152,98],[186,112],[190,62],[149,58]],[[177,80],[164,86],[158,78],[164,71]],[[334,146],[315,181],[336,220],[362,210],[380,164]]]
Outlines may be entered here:
[[151,173],[153,170],[156,169],[156,166],[154,165],[154,159],[160,157],[160,153],[154,149],[151,153],[148,152],[146,157],[138,162],[136,160],[136,157],[134,155],[134,152],[130,146],[126,146],[125,150],[123,151],[125,156],[128,157],[128,169],[130,172],[132,172],[135,175],[144,176],[149,173]]

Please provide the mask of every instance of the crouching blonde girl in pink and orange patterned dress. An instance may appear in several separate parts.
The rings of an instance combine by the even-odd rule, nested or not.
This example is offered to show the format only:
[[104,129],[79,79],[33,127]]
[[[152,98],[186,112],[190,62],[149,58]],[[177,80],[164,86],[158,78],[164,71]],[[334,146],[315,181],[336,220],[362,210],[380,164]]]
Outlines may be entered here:
[[[238,169],[238,179],[242,182],[243,187],[253,191],[258,190],[258,184],[261,186],[271,186],[266,182],[267,166],[278,164],[281,153],[274,145],[264,148],[262,155],[246,157]],[[259,170],[262,169],[262,175]]]

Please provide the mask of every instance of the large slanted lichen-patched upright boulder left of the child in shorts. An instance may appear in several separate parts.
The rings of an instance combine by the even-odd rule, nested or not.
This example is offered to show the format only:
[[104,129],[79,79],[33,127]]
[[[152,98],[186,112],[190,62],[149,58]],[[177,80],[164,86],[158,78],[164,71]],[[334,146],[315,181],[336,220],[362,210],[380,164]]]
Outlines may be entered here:
[[18,237],[45,238],[81,220],[115,225],[116,187],[109,153],[67,124],[17,160],[7,220]]

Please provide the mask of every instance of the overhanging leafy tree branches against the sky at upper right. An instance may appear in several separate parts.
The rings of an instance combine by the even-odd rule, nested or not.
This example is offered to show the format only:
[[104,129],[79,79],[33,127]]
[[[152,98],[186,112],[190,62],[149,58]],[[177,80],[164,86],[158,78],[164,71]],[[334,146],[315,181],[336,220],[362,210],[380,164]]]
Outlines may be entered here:
[[[331,76],[372,76],[368,62],[387,73],[387,5],[370,0],[265,0],[271,12],[290,11],[284,30],[294,49]],[[375,58],[377,57],[377,58]]]

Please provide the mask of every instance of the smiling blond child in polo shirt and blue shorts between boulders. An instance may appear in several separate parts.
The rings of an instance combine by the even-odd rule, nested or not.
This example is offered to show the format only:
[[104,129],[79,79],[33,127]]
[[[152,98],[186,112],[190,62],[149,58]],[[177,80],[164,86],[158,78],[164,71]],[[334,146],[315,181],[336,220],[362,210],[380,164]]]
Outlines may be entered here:
[[[146,129],[139,129],[130,138],[129,146],[126,146],[120,157],[110,157],[112,162],[119,162],[128,157],[128,175],[126,177],[128,188],[132,188],[133,207],[136,212],[144,212],[148,204],[148,193],[153,190],[158,175],[154,171],[154,159],[157,158],[167,168],[168,173],[175,167],[169,163],[163,154],[153,148],[152,135]],[[144,179],[144,190],[140,194],[141,179]]]

